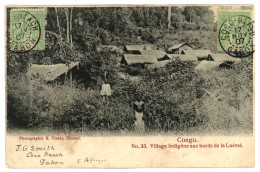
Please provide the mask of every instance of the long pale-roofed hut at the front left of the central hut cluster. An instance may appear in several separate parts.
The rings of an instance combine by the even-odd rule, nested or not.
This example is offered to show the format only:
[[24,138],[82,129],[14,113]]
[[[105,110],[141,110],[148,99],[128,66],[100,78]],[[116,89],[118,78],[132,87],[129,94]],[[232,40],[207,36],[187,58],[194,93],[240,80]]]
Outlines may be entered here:
[[124,54],[121,59],[121,64],[132,65],[132,66],[142,66],[145,67],[146,64],[156,63],[157,58],[155,56],[145,56],[145,55],[135,55],[135,54]]

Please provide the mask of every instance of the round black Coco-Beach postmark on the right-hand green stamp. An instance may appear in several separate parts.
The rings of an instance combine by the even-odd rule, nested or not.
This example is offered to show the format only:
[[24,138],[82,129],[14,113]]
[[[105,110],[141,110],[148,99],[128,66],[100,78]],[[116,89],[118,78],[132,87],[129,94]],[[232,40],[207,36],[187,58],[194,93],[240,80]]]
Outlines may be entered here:
[[253,22],[250,17],[237,15],[226,19],[219,29],[222,49],[233,57],[248,57],[253,53]]

